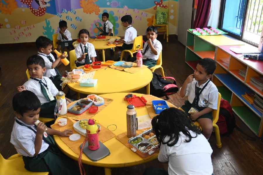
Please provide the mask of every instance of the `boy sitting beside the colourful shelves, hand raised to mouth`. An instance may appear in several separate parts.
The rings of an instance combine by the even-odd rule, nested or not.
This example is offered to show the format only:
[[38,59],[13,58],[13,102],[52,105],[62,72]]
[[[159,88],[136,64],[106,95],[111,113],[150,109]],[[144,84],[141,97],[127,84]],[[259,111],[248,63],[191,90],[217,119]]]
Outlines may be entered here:
[[[180,89],[180,96],[188,96],[188,101],[181,107],[192,120],[199,122],[203,135],[209,139],[213,130],[212,111],[217,110],[218,90],[210,78],[216,63],[211,58],[204,58],[197,64],[194,74],[187,77]],[[188,111],[195,108],[198,112]]]

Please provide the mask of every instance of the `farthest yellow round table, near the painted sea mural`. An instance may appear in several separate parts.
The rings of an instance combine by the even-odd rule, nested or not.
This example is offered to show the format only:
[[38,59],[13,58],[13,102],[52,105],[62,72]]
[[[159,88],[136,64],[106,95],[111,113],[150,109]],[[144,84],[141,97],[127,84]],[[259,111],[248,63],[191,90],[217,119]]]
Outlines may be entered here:
[[[117,36],[106,36],[105,39],[91,39],[89,38],[89,43],[92,43],[94,45],[95,50],[102,50],[102,60],[105,61],[105,49],[115,48],[116,45],[108,46],[108,40],[110,38],[118,38]],[[73,42],[73,46],[75,47],[76,44],[78,44],[78,41]],[[122,46],[122,45],[118,45]]]

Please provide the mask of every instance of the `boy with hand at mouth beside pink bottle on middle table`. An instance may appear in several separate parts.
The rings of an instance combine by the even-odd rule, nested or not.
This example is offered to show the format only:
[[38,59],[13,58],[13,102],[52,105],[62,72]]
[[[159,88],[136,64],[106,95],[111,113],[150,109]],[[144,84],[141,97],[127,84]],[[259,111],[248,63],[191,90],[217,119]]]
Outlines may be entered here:
[[[142,50],[143,64],[151,68],[156,65],[159,55],[162,51],[162,43],[157,38],[157,28],[150,26],[146,29],[146,36],[148,41],[145,42]],[[130,62],[134,62],[136,57],[129,59]]]

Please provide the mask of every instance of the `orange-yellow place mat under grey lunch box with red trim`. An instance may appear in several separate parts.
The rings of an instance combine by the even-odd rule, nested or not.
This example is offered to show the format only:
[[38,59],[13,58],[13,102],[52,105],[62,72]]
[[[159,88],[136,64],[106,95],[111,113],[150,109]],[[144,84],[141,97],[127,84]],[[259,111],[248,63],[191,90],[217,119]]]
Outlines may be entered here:
[[[87,99],[87,98],[84,98],[84,99]],[[102,111],[106,106],[108,106],[112,101],[113,99],[108,99],[108,98],[103,98],[104,99],[104,104],[101,105],[101,106],[98,106],[98,112],[99,113],[100,111]],[[75,103],[76,101],[70,103],[68,105],[71,106]],[[94,105],[93,105],[94,106]],[[66,113],[65,115],[59,115],[60,117],[68,117],[68,118],[72,118],[74,120],[82,120],[82,119],[89,119],[89,118],[92,118],[94,117],[94,115],[96,115],[96,113],[89,113],[89,110],[85,111],[84,113],[82,113],[81,115],[75,115],[75,114],[71,114],[71,113]]]

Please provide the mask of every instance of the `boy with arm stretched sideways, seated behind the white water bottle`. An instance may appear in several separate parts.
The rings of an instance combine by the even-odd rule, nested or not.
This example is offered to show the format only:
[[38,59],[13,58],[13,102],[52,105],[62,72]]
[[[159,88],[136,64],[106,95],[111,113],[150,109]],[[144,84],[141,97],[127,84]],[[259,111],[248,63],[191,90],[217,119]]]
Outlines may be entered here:
[[[45,62],[39,55],[32,55],[27,59],[27,69],[30,74],[30,79],[24,85],[18,86],[18,92],[23,90],[30,90],[37,95],[41,103],[40,116],[45,118],[54,118],[54,110],[56,106],[55,96],[58,89],[54,83],[43,76],[46,71]],[[66,98],[67,103],[72,101]]]

